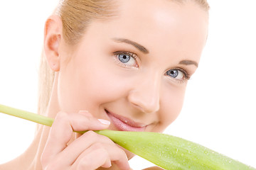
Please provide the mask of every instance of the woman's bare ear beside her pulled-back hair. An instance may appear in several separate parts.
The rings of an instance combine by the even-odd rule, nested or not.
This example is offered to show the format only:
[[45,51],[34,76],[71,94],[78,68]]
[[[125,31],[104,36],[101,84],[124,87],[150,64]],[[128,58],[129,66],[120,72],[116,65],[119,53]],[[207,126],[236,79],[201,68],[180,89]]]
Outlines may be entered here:
[[62,38],[62,21],[59,16],[50,16],[44,30],[44,52],[46,60],[55,72],[60,70],[60,41]]

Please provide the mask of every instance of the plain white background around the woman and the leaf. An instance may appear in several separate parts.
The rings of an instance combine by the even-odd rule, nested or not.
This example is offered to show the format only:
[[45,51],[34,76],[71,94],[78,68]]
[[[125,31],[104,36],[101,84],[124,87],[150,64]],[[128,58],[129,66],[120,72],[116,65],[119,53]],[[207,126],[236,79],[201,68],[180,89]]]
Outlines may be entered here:
[[[210,28],[183,111],[166,133],[256,167],[256,1],[208,0]],[[2,1],[0,103],[36,113],[43,25],[57,0]],[[35,123],[0,113],[0,164],[25,151]],[[149,166],[140,158],[134,169]]]

